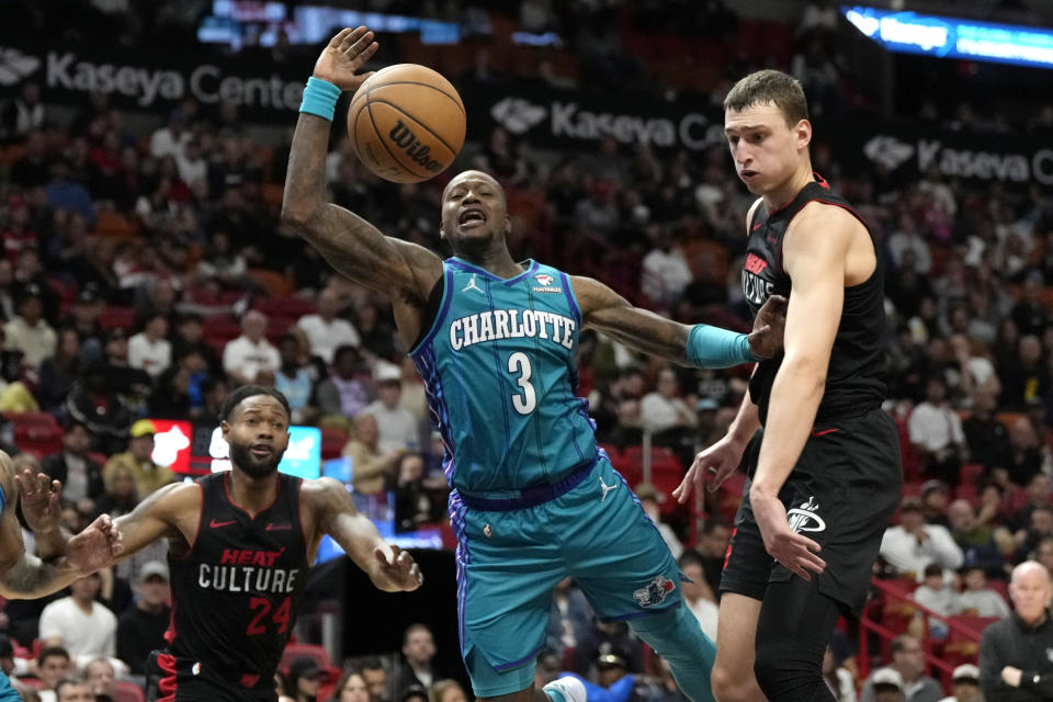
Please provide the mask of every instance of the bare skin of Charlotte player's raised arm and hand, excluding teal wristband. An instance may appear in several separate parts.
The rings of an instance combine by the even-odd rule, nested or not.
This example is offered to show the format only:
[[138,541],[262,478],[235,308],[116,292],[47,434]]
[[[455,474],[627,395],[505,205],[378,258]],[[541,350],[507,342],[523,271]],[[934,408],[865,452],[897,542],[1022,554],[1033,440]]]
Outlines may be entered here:
[[[376,52],[365,27],[343,30],[315,64],[315,77],[341,90],[369,78],[359,69]],[[285,173],[282,224],[298,234],[339,273],[389,295],[395,321],[407,343],[420,330],[420,309],[442,276],[442,261],[428,249],[385,237],[358,215],[326,202],[326,154],[331,123],[301,113]]]

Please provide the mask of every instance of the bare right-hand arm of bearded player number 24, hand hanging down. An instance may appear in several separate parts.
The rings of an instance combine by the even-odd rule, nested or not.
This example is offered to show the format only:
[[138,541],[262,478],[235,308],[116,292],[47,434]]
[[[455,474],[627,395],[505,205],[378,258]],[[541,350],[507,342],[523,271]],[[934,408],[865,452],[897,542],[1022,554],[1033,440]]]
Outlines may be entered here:
[[321,533],[340,544],[378,590],[416,590],[424,581],[408,552],[384,541],[376,526],[354,508],[348,488],[332,478],[304,482],[304,497]]

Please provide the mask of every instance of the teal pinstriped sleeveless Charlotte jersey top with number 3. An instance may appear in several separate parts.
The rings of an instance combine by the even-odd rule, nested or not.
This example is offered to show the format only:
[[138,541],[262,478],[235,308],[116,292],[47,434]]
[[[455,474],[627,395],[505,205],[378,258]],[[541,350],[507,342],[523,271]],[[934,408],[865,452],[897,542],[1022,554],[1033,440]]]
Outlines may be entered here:
[[410,352],[462,494],[554,483],[597,455],[566,273],[528,261],[508,280],[454,257],[434,324]]

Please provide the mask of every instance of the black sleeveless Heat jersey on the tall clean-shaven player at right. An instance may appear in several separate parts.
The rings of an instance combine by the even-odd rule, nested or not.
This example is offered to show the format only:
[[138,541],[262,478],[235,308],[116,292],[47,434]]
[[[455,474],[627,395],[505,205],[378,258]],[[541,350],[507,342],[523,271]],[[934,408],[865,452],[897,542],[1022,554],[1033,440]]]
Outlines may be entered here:
[[[843,207],[867,227],[845,197],[830,190],[819,176],[816,174],[816,179],[782,207],[769,213],[761,204],[754,213],[743,265],[743,293],[755,315],[772,294],[790,295],[792,281],[782,265],[782,240],[793,217],[806,204],[822,202]],[[867,231],[873,241],[869,227]],[[873,275],[859,285],[845,288],[845,305],[830,353],[826,390],[816,414],[817,422],[845,412],[873,409],[885,399],[884,337],[884,281],[879,257]],[[760,409],[762,422],[768,416],[771,386],[782,358],[779,353],[758,363],[749,383],[749,394]]]

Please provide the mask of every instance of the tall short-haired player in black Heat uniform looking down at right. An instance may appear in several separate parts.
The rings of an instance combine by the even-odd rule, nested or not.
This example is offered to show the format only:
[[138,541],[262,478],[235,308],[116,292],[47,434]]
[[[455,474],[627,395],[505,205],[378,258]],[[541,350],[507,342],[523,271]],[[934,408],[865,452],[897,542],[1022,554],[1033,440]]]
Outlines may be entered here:
[[724,107],[736,172],[759,196],[743,293],[755,312],[774,294],[789,303],[784,353],[756,366],[727,434],[697,456],[678,496],[706,474],[726,478],[754,439],[721,579],[713,690],[720,702],[833,702],[823,654],[837,618],[862,608],[902,485],[881,410],[882,271],[865,223],[812,172],[801,84],[757,71]]

